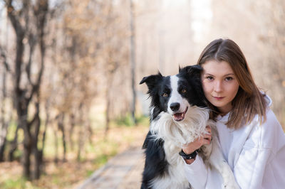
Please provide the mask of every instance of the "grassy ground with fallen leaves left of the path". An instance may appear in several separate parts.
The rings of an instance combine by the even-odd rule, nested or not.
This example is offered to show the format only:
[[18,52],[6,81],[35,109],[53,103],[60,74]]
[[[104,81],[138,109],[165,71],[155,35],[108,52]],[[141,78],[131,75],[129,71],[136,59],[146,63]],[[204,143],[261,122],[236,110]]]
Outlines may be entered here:
[[[123,120],[128,120],[126,117]],[[142,146],[142,142],[148,131],[148,118],[138,117],[138,126],[129,124],[118,124],[115,120],[110,125],[107,137],[103,127],[94,129],[91,143],[86,144],[81,153],[81,160],[76,160],[76,151],[71,151],[68,146],[66,158],[68,161],[53,162],[54,136],[49,131],[46,141],[45,168],[39,180],[29,182],[21,177],[21,163],[4,162],[0,163],[0,188],[76,188],[92,173],[103,166],[110,158],[117,153],[125,151],[132,146]],[[59,140],[58,146],[62,146]],[[62,147],[58,153],[62,154]],[[62,159],[62,156],[59,156]]]

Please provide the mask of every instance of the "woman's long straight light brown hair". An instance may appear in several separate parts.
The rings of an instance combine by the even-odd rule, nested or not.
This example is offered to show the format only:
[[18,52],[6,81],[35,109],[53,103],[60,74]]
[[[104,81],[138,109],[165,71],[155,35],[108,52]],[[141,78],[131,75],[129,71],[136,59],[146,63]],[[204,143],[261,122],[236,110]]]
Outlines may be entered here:
[[[202,65],[209,60],[229,63],[239,82],[239,90],[232,100],[232,110],[229,114],[227,127],[238,129],[244,123],[249,124],[256,115],[259,115],[260,122],[265,121],[267,104],[264,94],[254,83],[247,60],[237,43],[230,39],[212,41],[202,51],[197,65]],[[217,107],[210,103],[209,106],[214,110],[214,117],[217,116],[219,114]]]

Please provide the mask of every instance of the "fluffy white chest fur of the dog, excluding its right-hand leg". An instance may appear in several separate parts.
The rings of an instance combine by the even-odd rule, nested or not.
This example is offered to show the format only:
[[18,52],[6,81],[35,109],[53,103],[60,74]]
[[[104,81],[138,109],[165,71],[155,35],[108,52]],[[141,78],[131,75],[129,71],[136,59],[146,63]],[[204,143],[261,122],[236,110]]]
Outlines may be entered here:
[[185,177],[185,162],[179,152],[183,145],[205,133],[208,119],[207,109],[190,107],[183,121],[173,121],[172,116],[165,112],[160,113],[159,119],[152,121],[150,131],[155,139],[165,141],[163,148],[169,163],[167,176],[152,180],[152,188],[190,188]]

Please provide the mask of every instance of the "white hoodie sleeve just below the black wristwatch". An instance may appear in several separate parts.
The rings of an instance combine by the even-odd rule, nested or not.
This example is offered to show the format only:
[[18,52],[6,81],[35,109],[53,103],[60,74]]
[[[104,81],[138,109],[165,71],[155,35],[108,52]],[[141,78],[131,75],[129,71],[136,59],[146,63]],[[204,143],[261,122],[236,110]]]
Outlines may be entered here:
[[208,171],[200,156],[196,156],[195,161],[190,165],[185,163],[184,169],[186,178],[192,188],[205,188]]

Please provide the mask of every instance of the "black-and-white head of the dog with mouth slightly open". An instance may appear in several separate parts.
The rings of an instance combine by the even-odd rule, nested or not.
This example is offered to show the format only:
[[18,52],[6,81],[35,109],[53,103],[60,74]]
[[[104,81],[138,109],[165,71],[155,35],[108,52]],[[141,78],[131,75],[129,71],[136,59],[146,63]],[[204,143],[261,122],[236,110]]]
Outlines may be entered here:
[[167,112],[175,121],[182,121],[191,106],[205,107],[201,70],[199,65],[193,65],[180,69],[177,75],[164,77],[158,72],[143,77],[140,84],[147,84],[147,93],[152,99],[152,119],[160,112]]

